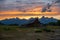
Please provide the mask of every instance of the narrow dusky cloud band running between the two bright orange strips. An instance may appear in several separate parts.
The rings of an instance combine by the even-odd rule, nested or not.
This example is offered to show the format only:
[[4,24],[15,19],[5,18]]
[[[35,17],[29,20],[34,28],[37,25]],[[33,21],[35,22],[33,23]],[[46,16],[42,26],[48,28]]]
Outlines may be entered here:
[[45,16],[48,16],[48,15],[50,15],[50,16],[53,16],[53,15],[60,15],[60,14],[0,14],[0,16],[2,17],[2,16],[42,16],[42,15],[45,15]]

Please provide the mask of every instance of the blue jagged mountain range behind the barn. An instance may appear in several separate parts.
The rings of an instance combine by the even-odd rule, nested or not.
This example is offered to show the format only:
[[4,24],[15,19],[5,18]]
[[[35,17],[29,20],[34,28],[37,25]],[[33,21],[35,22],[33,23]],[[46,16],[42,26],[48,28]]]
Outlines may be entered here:
[[[18,24],[18,25],[23,25],[23,24],[29,24],[32,23],[35,20],[35,18],[30,18],[30,19],[19,19],[18,17],[16,18],[10,18],[10,19],[5,19],[5,20],[0,20],[0,23],[10,25],[10,24]],[[39,22],[42,24],[48,24],[50,22],[57,22],[57,19],[51,17],[41,17],[38,18]]]

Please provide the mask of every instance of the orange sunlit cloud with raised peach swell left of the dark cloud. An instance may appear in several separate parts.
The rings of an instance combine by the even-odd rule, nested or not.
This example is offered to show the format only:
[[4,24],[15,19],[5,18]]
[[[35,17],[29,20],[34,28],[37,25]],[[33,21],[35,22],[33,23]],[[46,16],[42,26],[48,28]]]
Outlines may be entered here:
[[31,17],[41,17],[41,16],[54,16],[54,15],[59,15],[59,13],[56,11],[58,10],[56,7],[51,8],[53,12],[41,12],[43,6],[37,6],[33,8],[26,8],[25,12],[19,11],[17,9],[14,10],[8,10],[8,11],[0,11],[0,19],[5,19],[5,18],[26,18],[29,19]]

